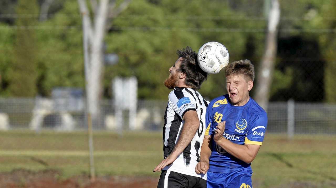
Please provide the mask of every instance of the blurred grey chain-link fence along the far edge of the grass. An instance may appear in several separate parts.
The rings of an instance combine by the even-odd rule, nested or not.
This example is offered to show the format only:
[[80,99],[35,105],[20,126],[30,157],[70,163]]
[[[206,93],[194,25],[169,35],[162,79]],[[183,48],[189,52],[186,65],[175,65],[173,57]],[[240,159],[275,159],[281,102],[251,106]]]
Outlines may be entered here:
[[[77,107],[73,105],[76,103]],[[136,114],[123,111],[123,130],[134,127],[136,130],[161,131],[164,124],[163,115],[167,101],[140,100]],[[102,100],[100,122],[94,125],[96,130],[121,130],[116,123],[112,100]],[[324,103],[270,102],[267,110],[267,132],[288,134],[335,134],[336,105]],[[1,129],[52,129],[52,130],[84,130],[85,101],[58,101],[46,98],[0,99]],[[133,126],[130,126],[134,123]]]

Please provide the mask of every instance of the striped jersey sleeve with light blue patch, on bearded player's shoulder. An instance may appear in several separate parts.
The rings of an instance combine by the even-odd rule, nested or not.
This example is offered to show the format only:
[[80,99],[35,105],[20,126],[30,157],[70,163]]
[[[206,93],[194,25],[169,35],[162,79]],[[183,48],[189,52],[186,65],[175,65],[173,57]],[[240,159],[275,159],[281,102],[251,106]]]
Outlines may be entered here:
[[196,111],[196,101],[194,96],[188,92],[183,92],[182,90],[174,90],[169,94],[169,102],[174,109],[174,111],[183,118],[185,112],[189,110]]

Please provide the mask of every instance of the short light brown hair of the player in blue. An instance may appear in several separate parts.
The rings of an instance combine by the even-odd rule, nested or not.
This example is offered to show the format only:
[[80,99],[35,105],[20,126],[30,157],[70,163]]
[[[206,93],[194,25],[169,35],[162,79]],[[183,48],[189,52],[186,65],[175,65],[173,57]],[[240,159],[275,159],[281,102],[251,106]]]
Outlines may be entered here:
[[225,69],[225,77],[244,75],[247,81],[254,81],[254,66],[251,61],[239,60],[230,63]]

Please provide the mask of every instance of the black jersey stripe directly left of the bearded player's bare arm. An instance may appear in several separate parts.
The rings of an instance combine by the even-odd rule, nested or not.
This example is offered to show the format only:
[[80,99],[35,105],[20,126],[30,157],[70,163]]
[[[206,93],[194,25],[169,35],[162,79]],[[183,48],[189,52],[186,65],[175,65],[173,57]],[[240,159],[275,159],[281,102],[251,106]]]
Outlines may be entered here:
[[169,128],[169,138],[167,139],[167,146],[164,150],[165,158],[170,155],[171,151],[175,147],[175,140],[177,137],[178,130],[180,129],[182,119],[180,116],[175,112],[174,120],[171,122]]

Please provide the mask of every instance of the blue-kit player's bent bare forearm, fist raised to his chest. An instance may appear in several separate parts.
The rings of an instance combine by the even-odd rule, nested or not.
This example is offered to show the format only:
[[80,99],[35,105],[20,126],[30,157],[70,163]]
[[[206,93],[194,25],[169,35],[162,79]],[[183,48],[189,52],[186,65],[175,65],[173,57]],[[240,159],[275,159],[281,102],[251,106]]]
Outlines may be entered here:
[[218,123],[218,125],[216,126],[214,141],[229,154],[235,156],[236,158],[244,161],[247,164],[251,163],[257,156],[260,145],[235,144],[223,137],[224,129],[225,129],[225,121]]

